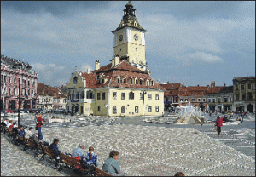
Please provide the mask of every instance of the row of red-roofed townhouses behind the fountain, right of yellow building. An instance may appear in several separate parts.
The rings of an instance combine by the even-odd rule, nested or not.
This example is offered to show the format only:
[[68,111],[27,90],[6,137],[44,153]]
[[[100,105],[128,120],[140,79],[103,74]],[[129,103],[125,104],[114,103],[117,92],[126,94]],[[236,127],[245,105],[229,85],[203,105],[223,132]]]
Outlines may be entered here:
[[189,102],[204,111],[255,111],[255,77],[234,77],[233,86],[189,86],[160,84],[166,89],[165,106],[185,106]]

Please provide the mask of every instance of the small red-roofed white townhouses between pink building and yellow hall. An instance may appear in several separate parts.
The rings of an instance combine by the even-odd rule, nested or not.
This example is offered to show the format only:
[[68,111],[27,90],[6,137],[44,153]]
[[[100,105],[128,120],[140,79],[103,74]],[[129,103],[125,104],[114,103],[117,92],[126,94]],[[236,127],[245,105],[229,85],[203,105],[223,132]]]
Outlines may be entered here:
[[46,109],[66,109],[67,94],[61,88],[51,87],[44,83],[38,83],[38,105],[37,108]]

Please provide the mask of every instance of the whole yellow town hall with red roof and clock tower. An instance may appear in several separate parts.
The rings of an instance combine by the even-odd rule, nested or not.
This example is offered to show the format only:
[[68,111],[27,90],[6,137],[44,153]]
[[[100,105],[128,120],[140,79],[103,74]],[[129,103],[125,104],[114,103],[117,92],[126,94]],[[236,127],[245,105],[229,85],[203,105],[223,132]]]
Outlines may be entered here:
[[145,32],[127,3],[119,27],[112,31],[113,59],[107,66],[96,60],[94,71],[75,71],[67,84],[67,111],[94,116],[160,116],[164,92],[145,59]]

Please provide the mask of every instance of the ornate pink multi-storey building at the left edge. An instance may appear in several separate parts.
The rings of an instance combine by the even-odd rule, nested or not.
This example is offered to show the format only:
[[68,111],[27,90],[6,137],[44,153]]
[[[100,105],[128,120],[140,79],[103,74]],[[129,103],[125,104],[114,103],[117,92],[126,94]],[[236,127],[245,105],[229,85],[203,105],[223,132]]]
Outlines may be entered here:
[[1,110],[18,109],[20,80],[20,109],[37,106],[38,74],[28,63],[20,62],[21,69],[15,67],[20,60],[1,55]]

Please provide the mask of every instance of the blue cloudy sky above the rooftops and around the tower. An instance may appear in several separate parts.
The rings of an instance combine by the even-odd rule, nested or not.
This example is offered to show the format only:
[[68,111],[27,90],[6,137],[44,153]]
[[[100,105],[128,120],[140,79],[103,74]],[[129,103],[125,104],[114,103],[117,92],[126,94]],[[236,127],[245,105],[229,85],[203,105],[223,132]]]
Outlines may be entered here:
[[[61,86],[110,63],[125,1],[1,1],[1,54],[24,60],[38,82]],[[146,32],[151,77],[186,86],[255,76],[254,1],[131,1]]]

